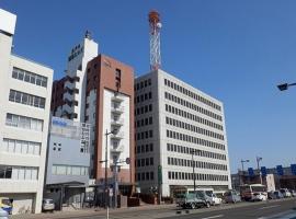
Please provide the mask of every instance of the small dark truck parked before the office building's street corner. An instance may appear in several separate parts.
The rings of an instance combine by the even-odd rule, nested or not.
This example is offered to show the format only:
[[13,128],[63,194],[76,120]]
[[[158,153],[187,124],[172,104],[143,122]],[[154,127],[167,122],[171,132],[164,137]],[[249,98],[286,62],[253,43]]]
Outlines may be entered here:
[[210,203],[206,200],[203,196],[198,195],[198,193],[187,193],[187,194],[179,194],[177,196],[175,203],[179,207],[183,209],[190,208],[198,208],[198,207],[210,207]]

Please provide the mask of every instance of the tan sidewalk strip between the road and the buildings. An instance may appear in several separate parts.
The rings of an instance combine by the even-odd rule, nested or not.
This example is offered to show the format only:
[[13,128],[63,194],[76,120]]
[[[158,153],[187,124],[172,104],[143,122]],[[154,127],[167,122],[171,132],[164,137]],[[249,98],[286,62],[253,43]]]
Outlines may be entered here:
[[[138,211],[138,210],[153,210],[153,209],[170,209],[174,208],[175,204],[163,204],[163,205],[143,205],[139,207],[128,207],[128,208],[110,208],[110,214],[112,212],[130,212],[130,211]],[[98,216],[98,215],[105,215],[106,210],[104,208],[84,208],[79,210],[72,211],[55,211],[52,212],[43,212],[43,214],[27,214],[27,215],[14,215],[11,219],[61,219],[61,218],[69,218],[69,217],[84,217],[84,216]]]

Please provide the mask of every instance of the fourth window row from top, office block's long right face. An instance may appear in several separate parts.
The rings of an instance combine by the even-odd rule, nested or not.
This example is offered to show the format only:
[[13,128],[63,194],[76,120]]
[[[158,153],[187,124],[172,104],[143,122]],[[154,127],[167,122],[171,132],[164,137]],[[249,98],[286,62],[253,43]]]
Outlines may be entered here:
[[178,128],[183,128],[186,130],[191,130],[193,132],[202,134],[204,136],[209,136],[212,138],[224,140],[224,136],[220,134],[217,134],[217,132],[204,129],[204,128],[200,128],[197,126],[194,126],[194,125],[191,125],[191,124],[187,124],[187,123],[174,119],[174,118],[166,117],[166,123],[168,125],[175,126]]

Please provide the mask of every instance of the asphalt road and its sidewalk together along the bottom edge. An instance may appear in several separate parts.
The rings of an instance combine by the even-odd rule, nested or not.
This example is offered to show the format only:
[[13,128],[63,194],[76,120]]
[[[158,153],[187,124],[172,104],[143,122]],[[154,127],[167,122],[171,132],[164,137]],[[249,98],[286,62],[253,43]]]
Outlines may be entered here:
[[[12,217],[14,218],[14,217]],[[83,215],[58,215],[42,214],[31,215],[25,219],[106,219],[106,210],[86,211]],[[296,219],[296,198],[261,201],[261,203],[239,203],[201,208],[194,210],[183,210],[175,206],[160,207],[152,209],[128,208],[122,210],[111,210],[110,219]],[[15,217],[19,219],[19,217]],[[22,216],[21,219],[24,219]]]

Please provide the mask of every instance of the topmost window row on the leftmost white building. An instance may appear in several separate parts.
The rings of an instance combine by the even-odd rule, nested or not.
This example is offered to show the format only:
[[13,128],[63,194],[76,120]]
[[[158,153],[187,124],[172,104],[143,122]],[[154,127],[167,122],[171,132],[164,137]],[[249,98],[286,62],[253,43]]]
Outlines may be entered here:
[[47,88],[47,78],[13,67],[12,78]]

